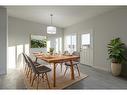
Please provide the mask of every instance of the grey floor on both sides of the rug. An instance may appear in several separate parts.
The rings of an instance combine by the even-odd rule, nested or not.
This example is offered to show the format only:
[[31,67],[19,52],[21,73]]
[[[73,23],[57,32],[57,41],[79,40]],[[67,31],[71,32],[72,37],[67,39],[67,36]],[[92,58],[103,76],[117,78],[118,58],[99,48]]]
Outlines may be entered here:
[[[80,65],[80,71],[89,75],[67,89],[127,89],[127,79],[114,77],[110,72]],[[0,89],[26,89],[20,70],[8,70],[0,76]]]

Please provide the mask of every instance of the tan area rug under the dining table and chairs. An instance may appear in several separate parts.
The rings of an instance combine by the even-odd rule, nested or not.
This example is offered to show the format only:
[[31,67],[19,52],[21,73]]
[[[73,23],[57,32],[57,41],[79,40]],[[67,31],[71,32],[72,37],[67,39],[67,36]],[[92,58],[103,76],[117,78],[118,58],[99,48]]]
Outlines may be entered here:
[[[48,66],[48,67],[52,68],[52,66]],[[50,73],[48,73],[48,78],[49,78],[50,87],[51,87],[50,89],[64,89],[64,88],[67,88],[67,87],[71,86],[72,84],[77,83],[77,82],[88,77],[87,74],[83,74],[83,73],[80,73],[80,77],[79,77],[77,70],[75,69],[75,72],[74,72],[75,73],[75,79],[71,80],[70,70],[68,69],[65,76],[64,76],[64,71],[65,71],[64,66],[62,67],[62,71],[60,69],[60,66],[59,65],[57,66],[57,69],[56,69],[56,87],[53,87],[53,78],[52,78],[53,72],[51,71]],[[37,81],[35,81],[33,86],[31,86],[29,79],[30,79],[29,77],[27,78],[24,75],[24,83],[26,85],[26,88],[27,89],[36,89]],[[45,81],[40,80],[39,85],[38,85],[38,89],[49,89],[48,85],[47,85],[47,81],[46,80]]]

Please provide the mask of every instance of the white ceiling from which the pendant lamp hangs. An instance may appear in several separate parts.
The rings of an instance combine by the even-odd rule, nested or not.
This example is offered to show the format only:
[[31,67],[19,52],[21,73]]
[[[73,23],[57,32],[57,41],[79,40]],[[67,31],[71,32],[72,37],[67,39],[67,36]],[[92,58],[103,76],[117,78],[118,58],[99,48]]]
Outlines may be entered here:
[[7,6],[9,16],[65,28],[82,20],[111,11],[116,6]]

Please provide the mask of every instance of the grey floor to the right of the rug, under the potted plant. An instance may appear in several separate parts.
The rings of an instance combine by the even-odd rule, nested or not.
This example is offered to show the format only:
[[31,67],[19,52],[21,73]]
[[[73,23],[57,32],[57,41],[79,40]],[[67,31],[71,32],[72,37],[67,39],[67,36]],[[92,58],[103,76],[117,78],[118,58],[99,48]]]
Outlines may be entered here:
[[88,74],[88,77],[67,89],[127,89],[127,79],[114,77],[110,72],[85,65],[80,65],[80,71]]

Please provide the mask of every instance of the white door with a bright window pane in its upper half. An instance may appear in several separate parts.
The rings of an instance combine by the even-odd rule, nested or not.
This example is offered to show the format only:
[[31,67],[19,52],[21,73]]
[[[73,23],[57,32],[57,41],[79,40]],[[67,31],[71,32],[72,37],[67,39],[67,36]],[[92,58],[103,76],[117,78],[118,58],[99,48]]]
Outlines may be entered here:
[[87,32],[80,35],[80,63],[92,66],[93,64],[93,41],[92,33]]

